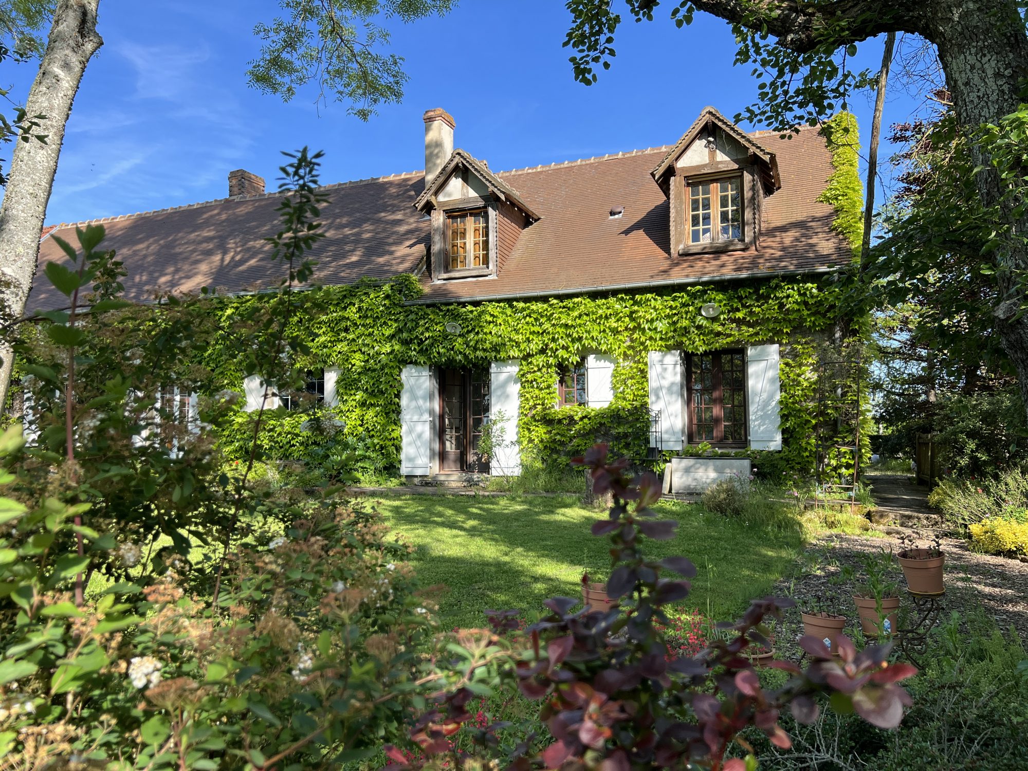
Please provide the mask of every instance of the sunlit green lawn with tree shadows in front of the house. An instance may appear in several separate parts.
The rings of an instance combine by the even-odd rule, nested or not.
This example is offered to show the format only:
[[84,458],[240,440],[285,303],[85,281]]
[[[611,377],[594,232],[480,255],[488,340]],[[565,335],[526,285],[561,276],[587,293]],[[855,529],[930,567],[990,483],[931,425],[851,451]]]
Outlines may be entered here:
[[[534,612],[554,595],[580,595],[583,566],[605,579],[605,538],[589,533],[603,512],[574,498],[397,495],[378,509],[416,546],[412,563],[424,585],[442,584],[442,621],[482,626],[486,609]],[[802,546],[800,528],[769,528],[710,514],[698,505],[662,503],[678,521],[671,541],[649,541],[648,553],[683,554],[699,575],[684,605],[715,619],[734,617],[766,595]]]

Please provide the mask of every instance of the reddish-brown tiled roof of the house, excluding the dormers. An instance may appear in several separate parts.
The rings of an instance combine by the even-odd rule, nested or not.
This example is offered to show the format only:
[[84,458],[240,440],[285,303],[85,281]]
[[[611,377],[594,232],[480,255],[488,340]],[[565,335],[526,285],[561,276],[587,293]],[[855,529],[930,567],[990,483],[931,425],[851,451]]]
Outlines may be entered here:
[[[766,198],[759,248],[671,257],[668,203],[650,172],[667,147],[501,172],[541,216],[522,233],[500,276],[430,282],[427,300],[456,301],[523,293],[575,292],[628,284],[695,281],[699,277],[809,270],[841,264],[849,248],[831,231],[832,208],[816,203],[832,166],[824,140],[804,128],[792,140],[762,134],[776,153],[782,187]],[[347,284],[418,272],[430,223],[413,207],[425,187],[420,172],[328,185],[322,208],[326,236],[314,250],[316,281]],[[116,249],[128,277],[125,295],[145,301],[156,292],[208,286],[245,292],[274,286],[281,268],[263,241],[279,224],[279,193],[224,198],[99,220],[105,245]],[[624,215],[611,219],[612,207]],[[40,263],[64,259],[52,241],[75,243],[74,225],[44,236]],[[42,276],[29,309],[63,303]]]

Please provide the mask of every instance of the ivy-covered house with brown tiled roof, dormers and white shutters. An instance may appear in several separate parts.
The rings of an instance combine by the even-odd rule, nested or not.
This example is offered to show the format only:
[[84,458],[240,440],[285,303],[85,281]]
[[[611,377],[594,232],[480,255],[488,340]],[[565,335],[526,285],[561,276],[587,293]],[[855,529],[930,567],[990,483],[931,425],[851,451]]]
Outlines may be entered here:
[[[407,477],[517,474],[629,425],[654,454],[811,465],[815,343],[843,313],[854,234],[839,223],[859,207],[825,191],[855,155],[818,127],[747,134],[708,107],[671,145],[494,172],[454,149],[447,112],[424,118],[424,173],[324,188],[316,281],[347,321],[309,320],[307,391],[347,436]],[[228,193],[100,220],[128,299],[214,287],[229,302],[274,282],[281,193],[244,170]],[[37,282],[30,308],[58,301]],[[223,358],[255,408],[270,387]],[[286,407],[272,433],[298,431],[296,400],[268,393]]]

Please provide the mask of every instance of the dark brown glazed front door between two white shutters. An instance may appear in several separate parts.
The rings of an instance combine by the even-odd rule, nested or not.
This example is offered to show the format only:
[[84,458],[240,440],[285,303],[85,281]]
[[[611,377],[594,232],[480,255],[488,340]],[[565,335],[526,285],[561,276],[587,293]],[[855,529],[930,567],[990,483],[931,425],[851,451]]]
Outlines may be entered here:
[[440,370],[439,396],[441,470],[487,473],[479,443],[489,414],[489,370]]

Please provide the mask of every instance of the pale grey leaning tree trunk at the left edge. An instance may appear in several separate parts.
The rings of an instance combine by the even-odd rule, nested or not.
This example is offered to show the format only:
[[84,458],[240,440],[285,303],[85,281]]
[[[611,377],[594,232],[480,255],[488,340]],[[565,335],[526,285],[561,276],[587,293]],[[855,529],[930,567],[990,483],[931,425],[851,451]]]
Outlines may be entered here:
[[[15,141],[0,206],[0,314],[6,322],[25,311],[65,124],[85,66],[104,43],[97,33],[99,4],[100,0],[59,0],[39,73],[25,105],[29,117],[45,116],[34,133],[45,134],[46,143]],[[0,340],[0,410],[7,403],[13,365],[13,332],[7,329]]]

